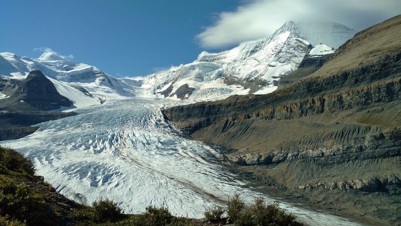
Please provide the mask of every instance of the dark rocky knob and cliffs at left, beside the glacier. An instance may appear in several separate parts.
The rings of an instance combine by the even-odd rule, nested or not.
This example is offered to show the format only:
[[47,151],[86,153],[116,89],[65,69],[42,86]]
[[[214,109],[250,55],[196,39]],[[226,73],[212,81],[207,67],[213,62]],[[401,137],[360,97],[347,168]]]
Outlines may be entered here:
[[39,129],[32,125],[77,115],[56,110],[74,105],[39,70],[24,80],[0,80],[0,91],[5,95],[0,99],[0,141],[19,139]]

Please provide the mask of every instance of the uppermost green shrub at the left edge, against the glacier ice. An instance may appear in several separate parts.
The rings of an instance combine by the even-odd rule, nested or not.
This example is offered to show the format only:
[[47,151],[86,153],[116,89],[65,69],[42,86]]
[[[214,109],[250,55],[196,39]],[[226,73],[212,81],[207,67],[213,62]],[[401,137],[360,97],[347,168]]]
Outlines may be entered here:
[[32,162],[11,148],[0,147],[0,165],[15,172],[27,173],[31,176],[35,174]]

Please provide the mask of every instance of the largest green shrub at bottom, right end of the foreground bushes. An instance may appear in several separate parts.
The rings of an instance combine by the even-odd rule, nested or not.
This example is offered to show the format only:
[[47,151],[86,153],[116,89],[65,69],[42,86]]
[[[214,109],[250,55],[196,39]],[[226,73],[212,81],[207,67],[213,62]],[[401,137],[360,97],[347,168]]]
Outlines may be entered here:
[[295,221],[296,216],[279,208],[279,203],[266,205],[261,198],[255,200],[249,209],[238,215],[234,223],[238,226],[251,225],[303,225]]

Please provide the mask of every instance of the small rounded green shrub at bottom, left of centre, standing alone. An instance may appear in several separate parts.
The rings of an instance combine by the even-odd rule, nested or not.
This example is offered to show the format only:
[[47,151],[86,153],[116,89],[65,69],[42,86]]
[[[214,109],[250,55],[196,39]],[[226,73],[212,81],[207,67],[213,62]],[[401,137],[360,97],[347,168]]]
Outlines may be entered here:
[[92,203],[95,219],[99,221],[117,221],[123,217],[122,209],[110,199],[100,199]]

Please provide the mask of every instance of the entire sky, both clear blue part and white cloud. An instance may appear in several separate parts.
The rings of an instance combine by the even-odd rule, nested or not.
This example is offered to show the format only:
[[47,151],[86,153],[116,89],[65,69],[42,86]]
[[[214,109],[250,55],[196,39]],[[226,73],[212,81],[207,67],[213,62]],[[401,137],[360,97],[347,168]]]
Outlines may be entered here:
[[0,52],[50,51],[115,77],[145,76],[268,37],[288,20],[360,31],[400,13],[399,0],[1,0]]

